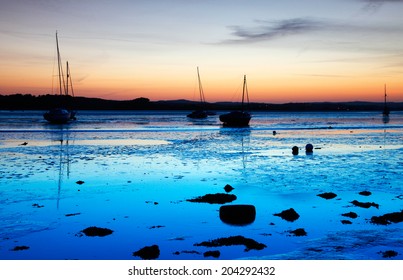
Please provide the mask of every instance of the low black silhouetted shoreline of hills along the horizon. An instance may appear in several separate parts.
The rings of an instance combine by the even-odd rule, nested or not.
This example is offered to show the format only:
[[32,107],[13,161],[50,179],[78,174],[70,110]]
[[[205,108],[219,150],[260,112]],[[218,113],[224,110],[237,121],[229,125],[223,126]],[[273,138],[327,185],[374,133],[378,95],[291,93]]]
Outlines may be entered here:
[[[133,100],[106,100],[101,98],[71,97],[58,95],[12,94],[0,95],[0,110],[48,110],[63,104],[75,110],[187,110],[201,109],[200,103],[189,100],[150,101],[140,97]],[[335,111],[382,111],[382,102],[301,102],[301,103],[249,103],[250,111],[285,112],[335,112]],[[390,102],[391,111],[403,111],[403,102]],[[206,103],[205,110],[226,111],[240,109],[238,102]]]

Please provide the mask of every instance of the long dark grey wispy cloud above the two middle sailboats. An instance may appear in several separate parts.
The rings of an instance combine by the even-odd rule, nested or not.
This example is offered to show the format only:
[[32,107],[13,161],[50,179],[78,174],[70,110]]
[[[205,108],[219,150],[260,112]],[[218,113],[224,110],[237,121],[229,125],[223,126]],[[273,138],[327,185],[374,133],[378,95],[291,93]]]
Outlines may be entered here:
[[231,33],[236,39],[228,40],[227,43],[257,42],[276,39],[278,37],[291,36],[311,32],[322,28],[325,23],[311,18],[292,18],[279,21],[256,21],[257,26],[242,27],[230,26]]

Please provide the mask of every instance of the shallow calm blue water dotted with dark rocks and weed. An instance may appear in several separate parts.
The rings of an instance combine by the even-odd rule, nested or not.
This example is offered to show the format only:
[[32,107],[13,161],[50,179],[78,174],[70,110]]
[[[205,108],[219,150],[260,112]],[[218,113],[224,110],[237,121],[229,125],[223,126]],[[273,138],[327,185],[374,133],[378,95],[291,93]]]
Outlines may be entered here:
[[[133,252],[154,244],[159,259],[174,260],[209,250],[219,259],[382,259],[393,250],[403,259],[403,223],[369,222],[402,210],[402,112],[387,123],[377,112],[254,113],[246,129],[188,112],[82,111],[64,126],[42,113],[0,111],[1,259],[138,259]],[[226,184],[230,204],[256,207],[252,224],[225,224],[221,205],[187,201]],[[298,220],[273,215],[289,208]],[[113,233],[83,235],[90,226]],[[289,233],[298,228],[307,235]],[[195,246],[236,235],[267,247]]]

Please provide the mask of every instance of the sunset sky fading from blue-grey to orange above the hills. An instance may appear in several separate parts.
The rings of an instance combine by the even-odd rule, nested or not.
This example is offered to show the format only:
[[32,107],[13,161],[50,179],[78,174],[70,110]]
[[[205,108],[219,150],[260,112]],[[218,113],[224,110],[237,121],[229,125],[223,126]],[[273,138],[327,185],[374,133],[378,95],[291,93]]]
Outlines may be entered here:
[[0,0],[0,94],[403,101],[403,0]]

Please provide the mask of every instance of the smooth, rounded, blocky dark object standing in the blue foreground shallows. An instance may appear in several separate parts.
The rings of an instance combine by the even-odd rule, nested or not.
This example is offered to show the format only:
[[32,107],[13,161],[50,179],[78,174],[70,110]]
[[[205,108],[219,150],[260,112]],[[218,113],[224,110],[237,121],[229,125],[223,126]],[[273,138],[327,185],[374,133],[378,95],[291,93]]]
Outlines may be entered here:
[[220,207],[220,219],[230,225],[248,225],[255,221],[256,209],[253,205],[224,205]]

